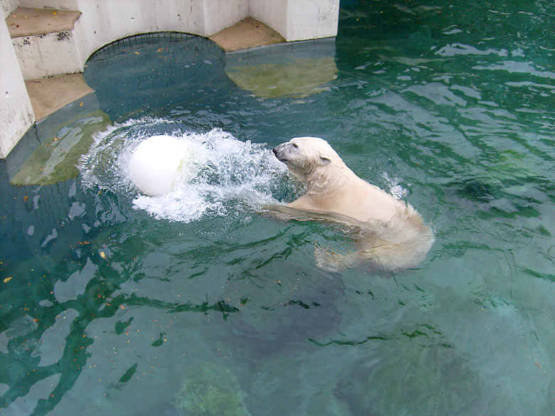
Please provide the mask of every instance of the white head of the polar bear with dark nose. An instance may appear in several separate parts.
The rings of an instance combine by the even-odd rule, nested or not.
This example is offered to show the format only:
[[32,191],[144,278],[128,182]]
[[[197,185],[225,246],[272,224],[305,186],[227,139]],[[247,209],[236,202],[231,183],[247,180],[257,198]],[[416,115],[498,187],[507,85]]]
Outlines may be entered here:
[[346,167],[332,146],[318,137],[295,137],[276,146],[273,152],[291,174],[305,181],[322,180],[330,171]]

